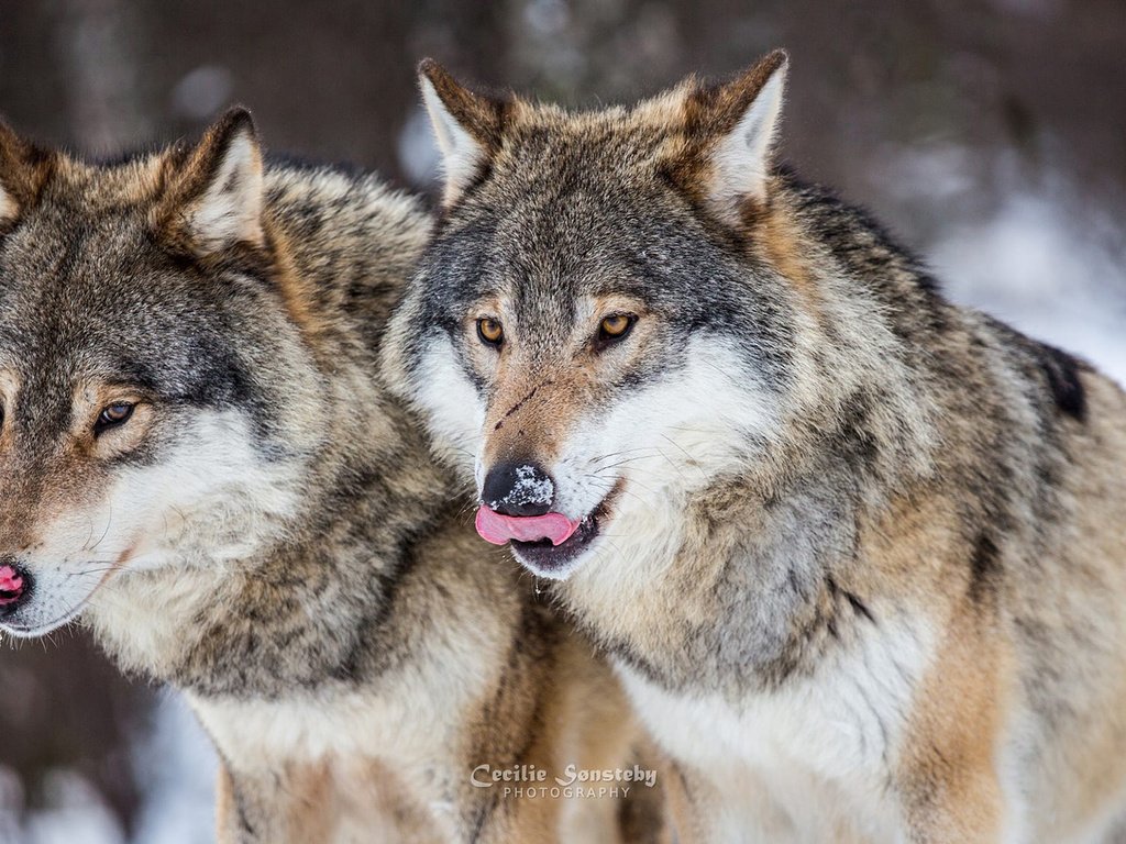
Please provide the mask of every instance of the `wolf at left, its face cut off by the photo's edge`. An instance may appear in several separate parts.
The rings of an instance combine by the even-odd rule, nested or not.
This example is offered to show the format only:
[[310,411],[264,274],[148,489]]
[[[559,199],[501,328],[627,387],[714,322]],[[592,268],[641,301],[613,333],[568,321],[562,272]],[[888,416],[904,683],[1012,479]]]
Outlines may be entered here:
[[376,375],[429,231],[244,109],[105,163],[0,128],[0,627],[182,690],[222,841],[617,839],[620,800],[473,775],[634,734]]

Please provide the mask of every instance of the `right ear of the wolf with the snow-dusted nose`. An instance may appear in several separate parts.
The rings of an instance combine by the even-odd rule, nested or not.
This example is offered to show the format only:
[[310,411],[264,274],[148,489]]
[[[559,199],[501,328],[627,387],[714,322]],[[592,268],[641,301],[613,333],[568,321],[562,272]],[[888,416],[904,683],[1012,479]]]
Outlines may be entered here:
[[735,80],[685,100],[688,134],[703,142],[705,198],[721,219],[738,224],[745,203],[767,200],[787,65],[776,50]]

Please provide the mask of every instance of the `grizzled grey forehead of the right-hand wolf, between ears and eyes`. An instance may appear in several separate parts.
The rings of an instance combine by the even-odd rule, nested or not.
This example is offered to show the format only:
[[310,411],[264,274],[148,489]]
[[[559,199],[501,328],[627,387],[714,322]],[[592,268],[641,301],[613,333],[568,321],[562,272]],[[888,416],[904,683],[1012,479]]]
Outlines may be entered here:
[[[609,163],[586,168],[581,151],[565,149],[554,163],[519,149],[509,158],[444,215],[423,258],[426,280],[455,307],[489,295],[531,306],[633,293],[683,311],[736,284],[722,234],[655,171],[635,178]],[[687,296],[673,279],[698,285]]]

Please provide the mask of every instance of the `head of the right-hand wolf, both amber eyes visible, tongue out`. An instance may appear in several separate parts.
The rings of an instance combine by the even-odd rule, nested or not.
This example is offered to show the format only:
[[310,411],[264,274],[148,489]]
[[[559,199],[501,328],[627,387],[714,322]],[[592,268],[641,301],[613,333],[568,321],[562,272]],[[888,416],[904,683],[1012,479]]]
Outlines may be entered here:
[[480,532],[539,575],[628,556],[626,532],[676,542],[686,496],[798,389],[770,231],[785,74],[775,52],[725,84],[571,114],[421,65],[445,213],[388,367],[472,460]]

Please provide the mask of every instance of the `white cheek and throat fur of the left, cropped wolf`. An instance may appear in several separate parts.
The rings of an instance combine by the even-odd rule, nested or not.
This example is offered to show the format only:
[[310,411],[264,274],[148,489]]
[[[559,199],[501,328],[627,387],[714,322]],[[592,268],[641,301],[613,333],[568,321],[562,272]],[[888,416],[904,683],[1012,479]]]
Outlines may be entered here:
[[171,455],[114,485],[106,541],[133,546],[129,571],[178,571],[159,581],[119,576],[91,602],[91,620],[127,663],[177,653],[214,578],[277,541],[297,512],[302,467],[267,463],[250,424],[236,412],[197,413]]

